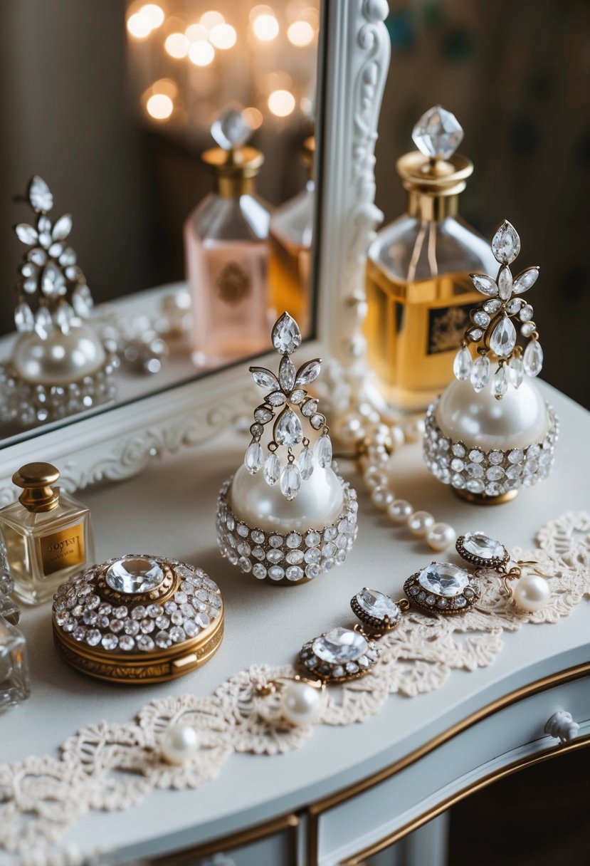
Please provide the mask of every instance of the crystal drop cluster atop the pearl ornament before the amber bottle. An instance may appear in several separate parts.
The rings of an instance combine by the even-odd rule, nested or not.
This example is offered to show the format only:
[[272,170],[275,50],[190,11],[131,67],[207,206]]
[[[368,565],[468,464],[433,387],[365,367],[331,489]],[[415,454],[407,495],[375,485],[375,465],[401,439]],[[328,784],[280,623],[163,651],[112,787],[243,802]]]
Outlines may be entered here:
[[[486,301],[471,310],[471,326],[465,331],[461,348],[453,362],[455,378],[469,379],[475,391],[491,387],[501,400],[509,385],[519,388],[524,376],[538,376],[542,370],[543,352],[533,321],[533,307],[523,294],[535,285],[539,268],[525,268],[516,277],[510,264],[520,252],[520,237],[514,226],[504,220],[491,241],[491,250],[500,264],[497,278],[486,274],[471,274],[471,281]],[[516,345],[516,326],[525,339],[526,348]],[[478,358],[473,360],[469,343],[478,346]],[[492,375],[492,363],[497,369]]]

